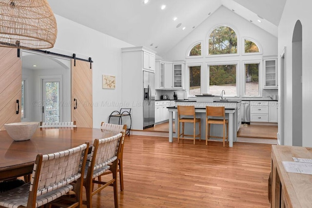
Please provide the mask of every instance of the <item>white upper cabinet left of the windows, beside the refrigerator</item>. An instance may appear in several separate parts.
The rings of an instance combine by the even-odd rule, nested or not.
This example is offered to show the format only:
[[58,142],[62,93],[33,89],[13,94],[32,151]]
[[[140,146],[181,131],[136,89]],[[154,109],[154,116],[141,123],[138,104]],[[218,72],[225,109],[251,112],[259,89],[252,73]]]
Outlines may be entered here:
[[183,89],[184,61],[156,60],[155,88]]

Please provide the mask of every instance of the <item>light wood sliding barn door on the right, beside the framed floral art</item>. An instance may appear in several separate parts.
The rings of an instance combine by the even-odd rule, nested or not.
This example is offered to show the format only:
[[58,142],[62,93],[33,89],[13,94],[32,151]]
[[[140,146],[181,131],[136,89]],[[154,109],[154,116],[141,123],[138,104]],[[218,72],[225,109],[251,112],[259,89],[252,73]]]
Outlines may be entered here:
[[72,68],[72,121],[77,127],[93,127],[92,69],[90,62],[74,60]]

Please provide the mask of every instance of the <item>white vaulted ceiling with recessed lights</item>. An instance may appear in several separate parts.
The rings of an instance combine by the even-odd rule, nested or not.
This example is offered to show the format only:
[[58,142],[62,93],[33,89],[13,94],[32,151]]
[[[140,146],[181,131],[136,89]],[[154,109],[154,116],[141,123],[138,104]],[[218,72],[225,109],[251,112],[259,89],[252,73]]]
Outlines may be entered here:
[[[277,37],[277,26],[286,0],[149,0],[146,4],[142,3],[143,0],[48,2],[59,16],[162,54],[185,38],[221,5]],[[166,8],[161,10],[163,4]],[[174,17],[177,18],[175,21]]]

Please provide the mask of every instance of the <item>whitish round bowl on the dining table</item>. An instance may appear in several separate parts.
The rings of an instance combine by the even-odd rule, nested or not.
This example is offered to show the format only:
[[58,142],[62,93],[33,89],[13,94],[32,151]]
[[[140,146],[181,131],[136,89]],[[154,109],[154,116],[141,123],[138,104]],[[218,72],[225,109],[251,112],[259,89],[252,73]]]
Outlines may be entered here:
[[6,132],[14,141],[29,140],[39,127],[39,122],[19,122],[4,124]]

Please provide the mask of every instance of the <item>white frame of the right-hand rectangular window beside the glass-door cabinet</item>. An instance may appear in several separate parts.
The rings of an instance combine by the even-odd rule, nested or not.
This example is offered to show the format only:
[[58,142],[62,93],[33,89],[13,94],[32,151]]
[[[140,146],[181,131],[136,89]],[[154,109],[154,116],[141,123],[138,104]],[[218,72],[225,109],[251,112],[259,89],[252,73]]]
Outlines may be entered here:
[[[246,93],[246,76],[245,76],[245,64],[259,64],[259,95],[245,95]],[[255,60],[243,60],[242,61],[242,97],[262,97],[262,80],[263,80],[263,75],[262,75],[262,59],[255,59]]]

